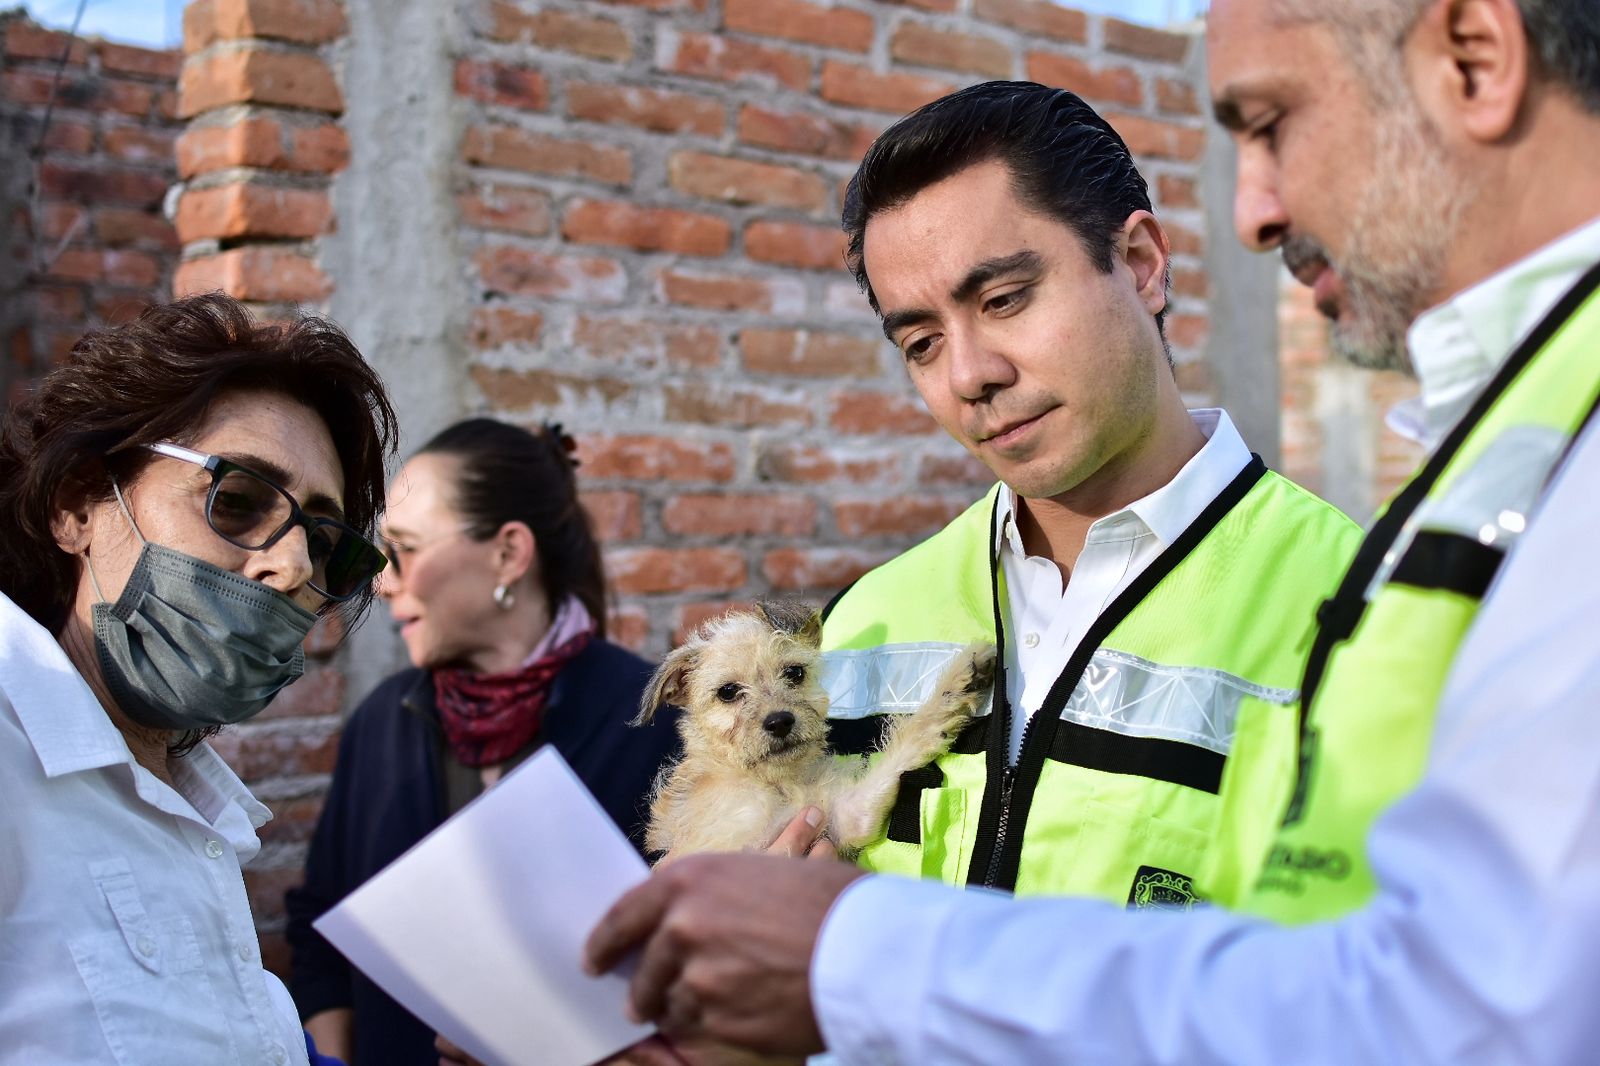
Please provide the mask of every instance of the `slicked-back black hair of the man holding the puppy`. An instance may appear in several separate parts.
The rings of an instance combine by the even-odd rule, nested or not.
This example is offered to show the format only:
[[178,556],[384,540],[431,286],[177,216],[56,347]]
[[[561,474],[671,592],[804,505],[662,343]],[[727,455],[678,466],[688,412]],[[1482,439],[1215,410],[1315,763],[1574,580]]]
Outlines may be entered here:
[[[885,130],[845,190],[845,264],[878,311],[862,246],[867,221],[976,163],[1000,160],[1018,198],[1072,229],[1102,274],[1122,224],[1150,211],[1150,192],[1123,139],[1067,90],[984,82],[942,96]],[[1157,323],[1165,311],[1155,317]]]

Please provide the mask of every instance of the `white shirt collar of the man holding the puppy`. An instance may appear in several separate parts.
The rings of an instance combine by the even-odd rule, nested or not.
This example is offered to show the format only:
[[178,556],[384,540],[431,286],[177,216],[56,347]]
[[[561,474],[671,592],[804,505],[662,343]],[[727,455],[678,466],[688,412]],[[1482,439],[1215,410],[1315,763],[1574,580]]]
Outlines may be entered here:
[[[1178,539],[1200,517],[1216,496],[1227,488],[1250,463],[1250,448],[1234,427],[1234,419],[1219,407],[1189,411],[1189,418],[1206,442],[1194,453],[1182,469],[1154,493],[1134,499],[1126,507],[1096,519],[1088,536],[1117,525],[1134,523],[1139,531],[1154,533],[1165,546]],[[998,522],[995,523],[995,554],[1011,552],[1026,559],[1022,535],[1016,528],[1016,493],[1010,485],[1000,485]]]

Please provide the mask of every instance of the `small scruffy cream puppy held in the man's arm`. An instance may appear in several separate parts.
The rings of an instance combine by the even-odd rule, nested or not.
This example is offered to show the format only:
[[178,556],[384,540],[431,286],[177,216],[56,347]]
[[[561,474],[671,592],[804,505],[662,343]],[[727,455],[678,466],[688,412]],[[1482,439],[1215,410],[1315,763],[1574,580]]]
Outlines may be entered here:
[[992,645],[971,645],[934,695],[891,715],[870,763],[827,751],[821,619],[803,603],[758,603],[696,629],[651,677],[637,722],[683,709],[683,755],[656,778],[645,845],[693,852],[765,848],[806,805],[846,858],[877,837],[907,770],[944,754],[994,679]]

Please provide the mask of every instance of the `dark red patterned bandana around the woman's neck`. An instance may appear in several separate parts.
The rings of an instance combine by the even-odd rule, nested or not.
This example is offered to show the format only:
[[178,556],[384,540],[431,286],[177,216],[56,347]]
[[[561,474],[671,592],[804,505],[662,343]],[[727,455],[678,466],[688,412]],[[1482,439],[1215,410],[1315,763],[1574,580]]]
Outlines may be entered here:
[[445,739],[464,767],[506,762],[539,731],[550,682],[582,651],[594,629],[584,629],[549,655],[504,674],[434,671],[434,698]]

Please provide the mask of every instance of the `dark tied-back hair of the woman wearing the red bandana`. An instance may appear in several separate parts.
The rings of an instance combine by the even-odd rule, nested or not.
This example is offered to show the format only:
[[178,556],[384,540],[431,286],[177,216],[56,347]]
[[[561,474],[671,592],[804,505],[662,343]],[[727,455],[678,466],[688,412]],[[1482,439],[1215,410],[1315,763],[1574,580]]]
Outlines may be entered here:
[[546,423],[531,434],[493,418],[469,418],[442,429],[418,455],[461,459],[454,504],[470,536],[488,539],[507,522],[533,530],[550,618],[576,595],[603,637],[605,567],[589,512],[578,501],[574,451],[560,426]]

